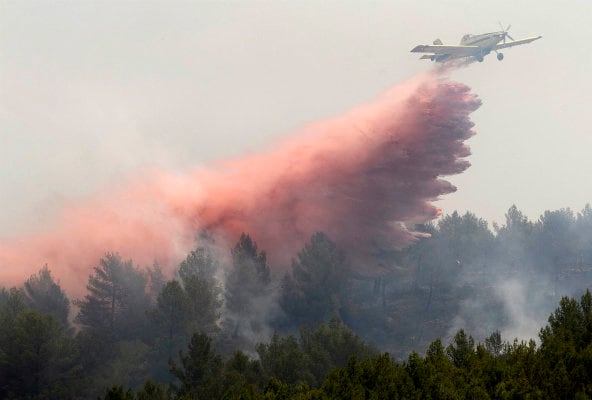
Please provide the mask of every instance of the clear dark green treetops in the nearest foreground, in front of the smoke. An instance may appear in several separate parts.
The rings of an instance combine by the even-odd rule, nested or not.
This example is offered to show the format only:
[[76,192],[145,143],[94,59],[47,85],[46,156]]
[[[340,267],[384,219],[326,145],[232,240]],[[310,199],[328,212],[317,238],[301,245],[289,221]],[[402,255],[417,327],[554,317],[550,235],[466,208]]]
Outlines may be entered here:
[[[181,383],[171,387],[173,394],[147,381],[137,398],[146,393],[159,399],[587,398],[592,391],[587,368],[591,327],[585,321],[592,317],[591,299],[590,291],[579,302],[564,297],[541,330],[540,346],[534,340],[501,341],[497,332],[483,345],[460,330],[448,346],[434,340],[425,356],[413,352],[404,363],[388,353],[351,356],[312,386],[307,383],[315,377],[307,368],[312,353],[293,337],[274,336],[259,360],[237,353],[224,362],[206,336],[195,334],[187,356],[182,354],[182,366],[173,367]],[[329,336],[340,337],[331,325]],[[104,397],[134,398],[132,390],[118,386]]]

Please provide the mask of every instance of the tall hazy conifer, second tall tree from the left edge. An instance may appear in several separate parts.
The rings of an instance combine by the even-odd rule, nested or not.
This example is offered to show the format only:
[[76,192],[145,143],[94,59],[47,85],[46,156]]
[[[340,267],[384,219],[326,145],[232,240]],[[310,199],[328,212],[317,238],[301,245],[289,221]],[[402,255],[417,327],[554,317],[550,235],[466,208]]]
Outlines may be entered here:
[[136,386],[147,378],[146,359],[151,300],[146,274],[107,253],[89,276],[88,293],[76,300],[75,321],[84,353],[81,364],[87,371],[88,393],[98,395],[111,385]]

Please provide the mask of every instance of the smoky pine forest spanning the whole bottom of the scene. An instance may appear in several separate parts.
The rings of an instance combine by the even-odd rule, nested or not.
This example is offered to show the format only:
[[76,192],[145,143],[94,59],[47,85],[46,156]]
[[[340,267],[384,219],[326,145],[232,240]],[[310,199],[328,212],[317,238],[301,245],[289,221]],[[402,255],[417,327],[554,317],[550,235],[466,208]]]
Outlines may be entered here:
[[200,234],[173,276],[106,253],[79,298],[40,266],[0,289],[0,398],[592,397],[589,205],[415,231],[363,259],[318,232],[288,271]]

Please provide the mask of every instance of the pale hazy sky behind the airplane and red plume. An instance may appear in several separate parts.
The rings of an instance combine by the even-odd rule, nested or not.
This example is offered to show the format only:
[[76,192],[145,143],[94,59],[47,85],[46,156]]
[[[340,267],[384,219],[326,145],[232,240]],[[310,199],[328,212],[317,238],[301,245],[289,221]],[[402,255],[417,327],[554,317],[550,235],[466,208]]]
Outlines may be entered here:
[[444,212],[592,202],[592,1],[0,0],[0,238],[146,167],[264,149],[432,68],[409,53],[512,24],[498,62],[456,71],[483,100]]

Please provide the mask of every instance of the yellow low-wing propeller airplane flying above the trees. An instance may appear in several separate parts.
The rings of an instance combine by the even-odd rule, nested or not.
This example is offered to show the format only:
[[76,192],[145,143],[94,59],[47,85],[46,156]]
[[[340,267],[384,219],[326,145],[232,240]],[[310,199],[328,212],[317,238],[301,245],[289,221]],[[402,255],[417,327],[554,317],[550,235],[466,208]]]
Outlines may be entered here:
[[[445,45],[440,39],[434,40],[433,45],[419,45],[411,50],[412,53],[429,53],[420,57],[420,60],[432,60],[435,62],[446,62],[458,58],[474,58],[483,62],[483,57],[494,51],[499,61],[504,59],[504,54],[499,50],[512,46],[518,46],[534,42],[542,36],[532,36],[520,40],[514,40],[508,33],[511,25],[506,29],[500,24],[501,31],[483,33],[480,35],[464,35],[460,45]],[[512,40],[506,42],[506,38]],[[501,42],[501,43],[500,43]]]

